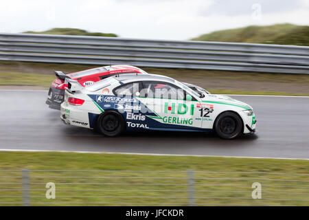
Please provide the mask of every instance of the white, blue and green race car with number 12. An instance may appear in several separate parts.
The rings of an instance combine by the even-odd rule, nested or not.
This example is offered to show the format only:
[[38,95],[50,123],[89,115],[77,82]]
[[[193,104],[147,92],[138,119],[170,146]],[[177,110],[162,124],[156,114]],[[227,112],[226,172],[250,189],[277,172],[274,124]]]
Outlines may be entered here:
[[215,131],[223,139],[255,132],[249,104],[228,96],[198,94],[173,78],[123,74],[88,87],[68,80],[60,118],[107,137],[124,131]]

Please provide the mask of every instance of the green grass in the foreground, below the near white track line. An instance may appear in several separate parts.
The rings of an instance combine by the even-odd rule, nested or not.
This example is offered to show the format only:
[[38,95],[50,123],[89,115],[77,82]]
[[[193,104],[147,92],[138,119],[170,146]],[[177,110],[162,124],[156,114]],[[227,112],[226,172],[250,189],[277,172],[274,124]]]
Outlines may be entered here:
[[[1,152],[0,161],[0,176],[5,176],[5,178],[0,178],[1,189],[3,189],[0,202],[21,203],[21,197],[5,196],[22,195],[21,184],[12,184],[21,181],[21,172],[13,170],[27,168],[30,170],[30,183],[32,183],[30,185],[32,205],[38,205],[38,203],[42,205],[42,202],[43,205],[45,203],[54,205],[61,205],[61,203],[103,203],[103,205],[179,203],[186,205],[188,201],[187,170],[193,169],[196,178],[194,186],[196,203],[199,204],[309,205],[309,161],[307,160]],[[44,170],[117,171],[56,172]],[[148,172],[129,170],[148,170]],[[149,172],[162,170],[169,172]],[[211,172],[205,173],[204,171]],[[251,185],[256,181],[262,184],[262,198],[264,199],[251,198],[253,190]],[[56,199],[45,199],[47,182],[56,184]]]

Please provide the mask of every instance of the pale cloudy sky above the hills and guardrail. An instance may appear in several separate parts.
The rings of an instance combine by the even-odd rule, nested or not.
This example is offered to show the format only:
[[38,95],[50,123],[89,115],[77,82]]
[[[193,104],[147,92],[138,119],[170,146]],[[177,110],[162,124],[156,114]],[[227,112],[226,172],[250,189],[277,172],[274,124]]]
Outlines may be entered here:
[[0,0],[0,32],[80,28],[188,40],[216,30],[309,24],[309,0]]

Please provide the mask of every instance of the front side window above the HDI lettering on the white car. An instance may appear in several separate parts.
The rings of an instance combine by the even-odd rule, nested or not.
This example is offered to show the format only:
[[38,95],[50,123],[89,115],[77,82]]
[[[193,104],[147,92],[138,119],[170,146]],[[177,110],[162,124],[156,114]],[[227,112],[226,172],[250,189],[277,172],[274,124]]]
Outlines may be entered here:
[[185,100],[185,91],[170,83],[149,81],[143,82],[144,89],[141,96],[148,98],[167,98]]

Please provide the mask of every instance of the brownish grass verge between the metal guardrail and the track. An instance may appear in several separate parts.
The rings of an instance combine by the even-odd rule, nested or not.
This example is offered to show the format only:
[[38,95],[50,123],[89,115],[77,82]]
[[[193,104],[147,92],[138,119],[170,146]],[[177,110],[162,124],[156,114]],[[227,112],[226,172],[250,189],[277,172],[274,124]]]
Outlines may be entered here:
[[[98,67],[98,65],[0,61],[0,85],[41,86],[47,89],[55,78],[54,69],[68,74],[94,67]],[[213,94],[309,95],[307,89],[309,75],[306,74],[270,74],[152,67],[144,67],[143,69],[150,74],[170,76],[181,82],[199,85]],[[240,87],[240,85],[244,86]]]

